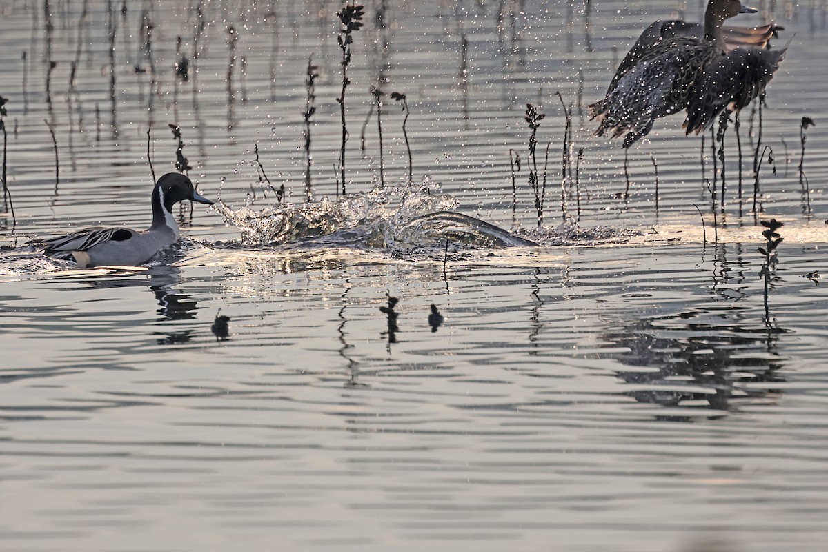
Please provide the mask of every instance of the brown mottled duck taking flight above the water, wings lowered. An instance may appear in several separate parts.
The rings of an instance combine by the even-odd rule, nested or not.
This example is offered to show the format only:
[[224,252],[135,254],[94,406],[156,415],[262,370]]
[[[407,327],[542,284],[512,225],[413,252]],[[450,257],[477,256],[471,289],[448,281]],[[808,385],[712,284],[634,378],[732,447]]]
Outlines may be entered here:
[[647,35],[643,36],[643,47],[632,54],[632,65],[624,68],[622,62],[604,99],[589,106],[590,118],[599,120],[595,135],[626,135],[623,147],[628,148],[647,136],[655,119],[684,109],[688,110],[686,133],[699,132],[709,127],[724,108],[744,107],[762,94],[784,50],[770,53],[758,48],[766,45],[769,37],[728,46],[723,30],[729,18],[755,12],[739,0],[710,0],[705,10],[704,36],[681,34],[688,27],[673,25],[678,36],[653,40],[657,34],[671,31],[663,23],[651,26],[650,33],[643,33]]

